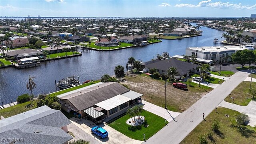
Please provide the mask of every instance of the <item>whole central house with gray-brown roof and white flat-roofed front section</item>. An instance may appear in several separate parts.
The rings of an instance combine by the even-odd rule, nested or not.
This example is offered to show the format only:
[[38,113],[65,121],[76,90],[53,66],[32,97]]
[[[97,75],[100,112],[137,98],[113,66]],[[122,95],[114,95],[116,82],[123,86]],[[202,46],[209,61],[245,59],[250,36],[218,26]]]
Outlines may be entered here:
[[133,100],[142,94],[128,90],[118,82],[96,83],[72,93],[58,95],[61,109],[78,112],[81,117],[107,117],[117,112],[125,112]]

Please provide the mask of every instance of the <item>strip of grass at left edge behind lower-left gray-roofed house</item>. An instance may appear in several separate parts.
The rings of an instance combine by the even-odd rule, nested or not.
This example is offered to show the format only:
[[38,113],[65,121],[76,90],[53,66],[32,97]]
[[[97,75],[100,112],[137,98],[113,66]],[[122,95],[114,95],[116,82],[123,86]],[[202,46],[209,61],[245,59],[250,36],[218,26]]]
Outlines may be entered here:
[[8,118],[10,116],[14,116],[16,114],[20,114],[22,112],[26,112],[28,110],[32,110],[36,108],[36,100],[33,103],[24,102],[21,104],[16,104],[15,106],[10,106],[8,108],[0,109],[0,115],[4,118]]

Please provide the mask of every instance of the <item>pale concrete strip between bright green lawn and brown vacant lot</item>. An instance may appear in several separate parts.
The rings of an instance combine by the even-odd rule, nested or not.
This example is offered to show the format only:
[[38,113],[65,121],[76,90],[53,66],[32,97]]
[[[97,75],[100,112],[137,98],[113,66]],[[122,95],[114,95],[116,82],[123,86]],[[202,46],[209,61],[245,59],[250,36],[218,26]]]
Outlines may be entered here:
[[180,112],[172,112],[170,110],[166,110],[165,108],[156,106],[154,104],[151,104],[150,102],[146,102],[145,100],[142,100],[142,104],[144,104],[144,110],[152,112],[153,114],[156,114],[158,116],[161,116],[162,118],[165,118],[168,122],[175,120],[175,118],[179,114],[181,114]]

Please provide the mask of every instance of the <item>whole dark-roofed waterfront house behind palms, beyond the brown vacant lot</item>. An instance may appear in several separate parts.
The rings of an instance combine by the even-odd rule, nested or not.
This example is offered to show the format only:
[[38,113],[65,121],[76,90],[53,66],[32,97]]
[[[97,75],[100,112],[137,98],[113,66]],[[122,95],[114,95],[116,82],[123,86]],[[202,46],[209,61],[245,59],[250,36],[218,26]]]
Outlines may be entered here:
[[176,60],[175,58],[168,58],[165,60],[155,59],[142,63],[143,72],[149,72],[150,68],[156,68],[157,72],[160,74],[167,74],[168,68],[172,66],[177,68],[177,78],[181,78],[182,76],[187,77],[189,72],[194,71],[198,67],[197,64]]

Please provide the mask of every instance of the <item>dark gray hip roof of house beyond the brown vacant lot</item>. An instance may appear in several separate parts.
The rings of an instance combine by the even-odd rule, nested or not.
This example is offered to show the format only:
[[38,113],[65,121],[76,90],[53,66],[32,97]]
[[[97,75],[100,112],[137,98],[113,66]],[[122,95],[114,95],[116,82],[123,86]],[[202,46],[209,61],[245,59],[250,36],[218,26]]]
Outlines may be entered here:
[[[190,64],[188,62],[183,62],[181,60],[176,60],[174,58],[166,59],[166,60],[160,60],[151,64],[146,64],[145,67],[147,68],[156,68],[158,70],[167,70],[170,67],[177,68],[177,71],[180,75],[184,75],[188,73],[189,70],[193,68],[193,64]],[[194,68],[196,68],[198,65],[194,64]]]

